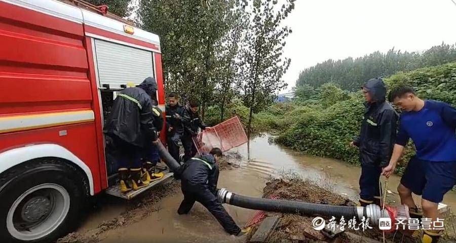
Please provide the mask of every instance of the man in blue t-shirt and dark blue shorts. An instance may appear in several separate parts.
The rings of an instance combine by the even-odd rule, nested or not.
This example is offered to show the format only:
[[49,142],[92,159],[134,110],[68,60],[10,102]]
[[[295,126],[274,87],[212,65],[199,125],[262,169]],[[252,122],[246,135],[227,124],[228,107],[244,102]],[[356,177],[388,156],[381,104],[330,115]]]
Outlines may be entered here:
[[[422,195],[424,216],[435,221],[443,195],[456,184],[456,109],[447,103],[422,100],[413,89],[399,87],[390,101],[402,109],[399,131],[389,166],[382,174],[389,177],[411,138],[416,155],[410,159],[397,190],[410,217],[420,218],[411,193]],[[437,242],[441,231],[424,230],[423,242]]]

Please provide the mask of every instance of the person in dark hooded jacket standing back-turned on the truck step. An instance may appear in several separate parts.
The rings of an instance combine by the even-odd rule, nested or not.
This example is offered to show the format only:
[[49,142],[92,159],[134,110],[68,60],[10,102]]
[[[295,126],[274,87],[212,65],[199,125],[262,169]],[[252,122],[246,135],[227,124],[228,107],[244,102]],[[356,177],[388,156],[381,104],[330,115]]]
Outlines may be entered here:
[[[141,179],[141,157],[145,143],[158,139],[150,98],[156,91],[157,83],[152,77],[147,77],[137,87],[123,90],[117,95],[106,121],[104,133],[112,138],[117,150],[122,192],[146,185]],[[133,188],[128,183],[129,173]]]

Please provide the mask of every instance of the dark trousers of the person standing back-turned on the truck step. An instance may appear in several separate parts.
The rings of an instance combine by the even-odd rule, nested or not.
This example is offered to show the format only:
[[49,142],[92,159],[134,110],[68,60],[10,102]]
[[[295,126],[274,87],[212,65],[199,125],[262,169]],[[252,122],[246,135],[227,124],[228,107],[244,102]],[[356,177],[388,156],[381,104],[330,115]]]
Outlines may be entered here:
[[113,136],[115,156],[118,168],[141,168],[143,148],[125,142],[119,137]]

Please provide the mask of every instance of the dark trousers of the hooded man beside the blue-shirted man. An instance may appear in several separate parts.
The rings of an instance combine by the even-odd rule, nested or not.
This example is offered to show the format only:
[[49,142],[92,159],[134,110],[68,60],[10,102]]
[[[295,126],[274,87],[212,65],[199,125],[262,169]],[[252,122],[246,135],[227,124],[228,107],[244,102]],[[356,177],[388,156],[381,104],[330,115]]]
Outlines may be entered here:
[[[382,168],[378,166],[361,165],[361,177],[359,178],[359,197],[364,201],[374,201],[380,198],[380,175]],[[367,203],[367,202],[365,202]]]

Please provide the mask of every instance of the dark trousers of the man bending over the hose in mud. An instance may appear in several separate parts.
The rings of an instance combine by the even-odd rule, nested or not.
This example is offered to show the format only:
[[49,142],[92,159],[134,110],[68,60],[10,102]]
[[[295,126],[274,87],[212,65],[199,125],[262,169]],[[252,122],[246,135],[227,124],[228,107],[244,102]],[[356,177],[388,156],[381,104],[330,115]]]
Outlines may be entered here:
[[[188,186],[187,186],[188,187]],[[195,204],[195,201],[202,204],[217,219],[221,226],[229,234],[237,235],[241,229],[236,225],[233,218],[226,212],[223,206],[217,201],[207,186],[182,186],[184,199],[177,210],[178,214],[187,214]]]

